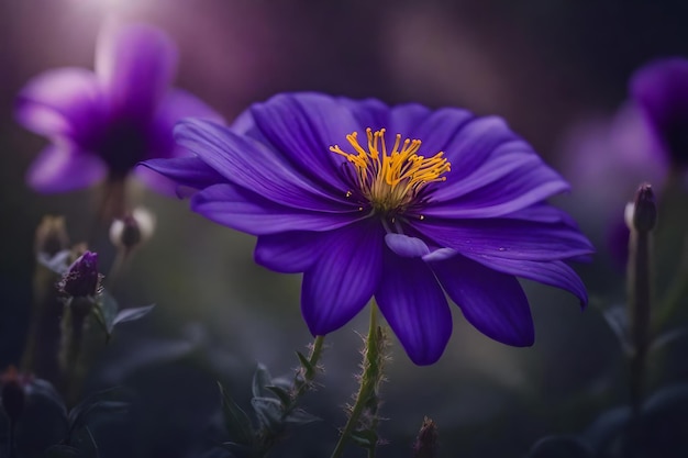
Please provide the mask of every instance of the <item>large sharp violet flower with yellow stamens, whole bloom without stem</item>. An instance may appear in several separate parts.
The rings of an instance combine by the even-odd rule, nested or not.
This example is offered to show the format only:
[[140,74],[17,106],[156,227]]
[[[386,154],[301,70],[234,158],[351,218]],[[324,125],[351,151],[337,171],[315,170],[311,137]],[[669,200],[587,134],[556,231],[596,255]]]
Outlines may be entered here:
[[297,93],[253,105],[233,130],[182,121],[176,138],[196,157],[145,165],[198,189],[196,212],[257,235],[258,264],[303,272],[314,335],[375,295],[428,365],[452,333],[445,292],[475,327],[517,346],[534,340],[517,277],[587,302],[565,261],[592,247],[544,201],[568,186],[498,118]]

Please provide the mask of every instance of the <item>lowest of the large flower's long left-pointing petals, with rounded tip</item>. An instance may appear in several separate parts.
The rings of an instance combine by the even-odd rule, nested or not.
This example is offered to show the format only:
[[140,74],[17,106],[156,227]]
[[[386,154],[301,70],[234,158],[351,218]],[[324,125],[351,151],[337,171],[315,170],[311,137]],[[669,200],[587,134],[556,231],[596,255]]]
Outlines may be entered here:
[[253,235],[284,231],[332,231],[365,217],[299,211],[230,183],[213,185],[193,194],[191,210],[215,223]]

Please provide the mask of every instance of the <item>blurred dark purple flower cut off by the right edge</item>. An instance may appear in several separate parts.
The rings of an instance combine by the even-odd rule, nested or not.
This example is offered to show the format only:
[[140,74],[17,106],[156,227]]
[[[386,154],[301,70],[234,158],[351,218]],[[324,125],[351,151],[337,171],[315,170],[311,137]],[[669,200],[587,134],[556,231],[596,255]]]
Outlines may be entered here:
[[641,108],[654,143],[676,166],[688,166],[688,59],[655,60],[631,79],[631,94]]

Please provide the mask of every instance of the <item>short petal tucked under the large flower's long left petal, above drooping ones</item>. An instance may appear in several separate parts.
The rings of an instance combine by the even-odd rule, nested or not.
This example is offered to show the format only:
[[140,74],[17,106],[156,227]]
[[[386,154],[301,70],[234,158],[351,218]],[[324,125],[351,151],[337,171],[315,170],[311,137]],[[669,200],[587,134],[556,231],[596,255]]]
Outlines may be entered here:
[[254,259],[260,266],[278,272],[302,272],[318,260],[323,245],[330,242],[333,233],[291,231],[262,235],[256,244]]

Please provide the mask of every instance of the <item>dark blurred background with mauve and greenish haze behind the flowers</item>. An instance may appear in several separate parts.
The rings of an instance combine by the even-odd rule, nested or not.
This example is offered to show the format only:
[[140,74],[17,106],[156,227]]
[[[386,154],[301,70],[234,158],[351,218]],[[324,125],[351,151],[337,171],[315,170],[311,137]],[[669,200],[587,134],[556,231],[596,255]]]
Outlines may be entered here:
[[[537,334],[532,348],[491,342],[457,309],[448,348],[432,367],[413,366],[393,345],[384,386],[389,420],[380,427],[389,444],[380,456],[410,456],[428,415],[439,424],[443,457],[520,457],[540,437],[580,433],[602,409],[624,402],[621,349],[597,305],[622,301],[609,227],[643,177],[608,159],[604,126],[636,67],[688,55],[688,3],[0,0],[0,368],[21,359],[36,225],[44,214],[63,214],[73,242],[89,239],[97,192],[42,196],[25,186],[46,142],[15,123],[13,99],[44,70],[92,68],[99,27],[111,15],[167,31],[180,49],[175,85],[228,121],[253,102],[299,90],[463,107],[503,116],[574,183],[557,204],[598,247],[595,261],[578,268],[592,305],[581,313],[573,297],[524,282]],[[574,166],[586,154],[592,169],[599,155],[603,179]],[[123,384],[136,402],[126,422],[97,428],[97,439],[102,457],[195,456],[217,436],[215,380],[247,406],[257,361],[289,373],[293,351],[311,340],[299,313],[300,278],[255,266],[252,237],[192,214],[186,202],[144,189],[135,199],[156,214],[157,230],[113,294],[123,306],[157,308],[98,351],[87,389]],[[112,248],[104,237],[90,242],[106,270]],[[322,386],[304,399],[324,421],[295,432],[276,456],[326,456],[356,390],[366,319],[328,337]],[[688,371],[664,373],[654,383],[685,380]]]

